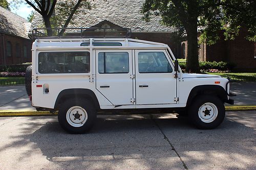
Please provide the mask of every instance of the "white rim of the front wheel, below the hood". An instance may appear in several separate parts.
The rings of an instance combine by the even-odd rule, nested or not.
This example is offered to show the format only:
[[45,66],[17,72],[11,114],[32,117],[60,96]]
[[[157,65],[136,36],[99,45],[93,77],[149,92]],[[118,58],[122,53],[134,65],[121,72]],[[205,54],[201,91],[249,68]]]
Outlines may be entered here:
[[218,108],[215,104],[205,103],[198,110],[198,116],[204,123],[211,123],[218,116]]

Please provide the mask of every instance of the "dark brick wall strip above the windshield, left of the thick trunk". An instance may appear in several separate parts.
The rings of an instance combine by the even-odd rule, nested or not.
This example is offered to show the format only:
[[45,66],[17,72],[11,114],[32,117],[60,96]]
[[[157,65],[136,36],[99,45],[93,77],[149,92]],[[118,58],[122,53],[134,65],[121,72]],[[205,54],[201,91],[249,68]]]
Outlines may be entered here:
[[167,44],[172,52],[174,53],[175,58],[181,57],[181,46],[180,43],[175,42],[172,39],[172,33],[136,33],[132,32],[131,38],[153,41],[153,42],[161,42]]

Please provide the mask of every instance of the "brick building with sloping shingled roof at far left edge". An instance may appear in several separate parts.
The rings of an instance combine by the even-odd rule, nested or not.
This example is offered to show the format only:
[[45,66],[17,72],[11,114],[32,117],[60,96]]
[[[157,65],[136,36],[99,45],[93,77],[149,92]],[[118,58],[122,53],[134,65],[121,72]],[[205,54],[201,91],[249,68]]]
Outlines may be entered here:
[[31,62],[30,22],[0,7],[0,65]]

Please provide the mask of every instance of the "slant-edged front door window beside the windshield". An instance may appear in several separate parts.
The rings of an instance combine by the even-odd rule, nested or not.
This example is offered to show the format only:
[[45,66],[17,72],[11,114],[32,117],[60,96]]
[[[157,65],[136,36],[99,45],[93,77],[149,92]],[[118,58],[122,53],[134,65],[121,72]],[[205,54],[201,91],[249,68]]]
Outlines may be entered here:
[[173,72],[163,52],[140,52],[138,64],[140,73]]

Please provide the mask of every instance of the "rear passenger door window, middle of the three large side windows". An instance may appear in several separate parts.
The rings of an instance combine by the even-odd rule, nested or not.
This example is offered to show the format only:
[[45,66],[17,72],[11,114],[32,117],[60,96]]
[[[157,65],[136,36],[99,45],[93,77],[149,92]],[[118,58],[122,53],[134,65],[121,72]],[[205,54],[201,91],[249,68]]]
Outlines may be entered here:
[[129,72],[129,54],[121,53],[99,53],[99,73],[128,73]]

